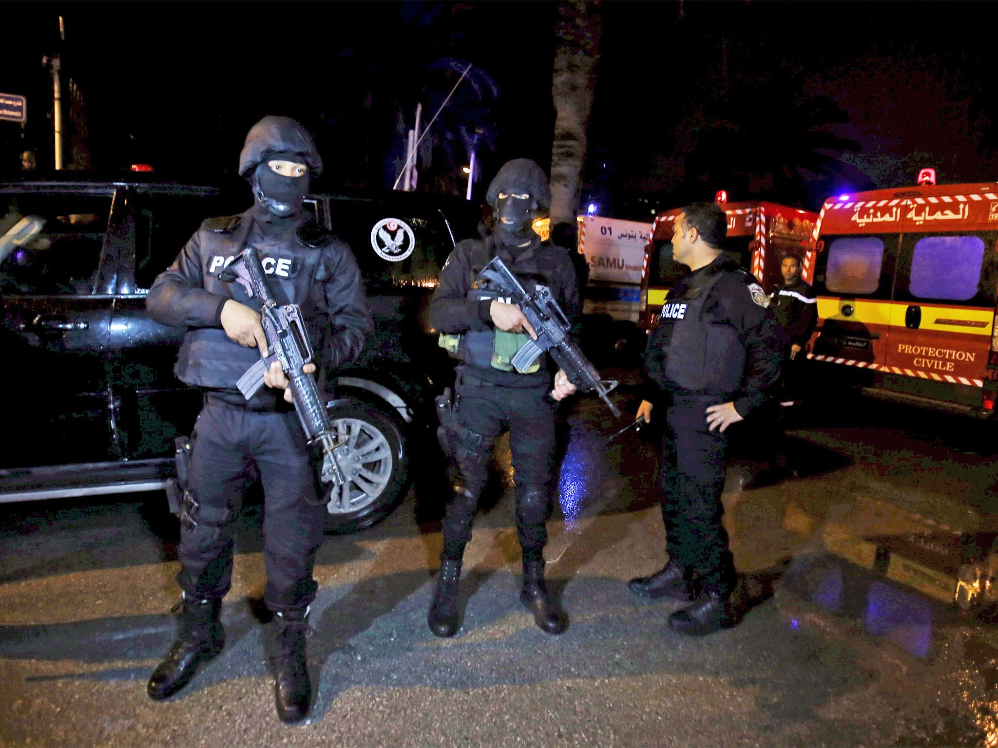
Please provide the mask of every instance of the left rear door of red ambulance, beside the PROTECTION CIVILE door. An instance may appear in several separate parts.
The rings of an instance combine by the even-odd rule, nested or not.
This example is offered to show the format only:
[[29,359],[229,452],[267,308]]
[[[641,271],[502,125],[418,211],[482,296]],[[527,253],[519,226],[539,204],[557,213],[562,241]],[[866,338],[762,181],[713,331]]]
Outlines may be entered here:
[[813,284],[818,327],[808,357],[850,367],[854,374],[879,369],[890,344],[901,200],[871,210],[879,202],[826,203],[821,225],[824,250]]

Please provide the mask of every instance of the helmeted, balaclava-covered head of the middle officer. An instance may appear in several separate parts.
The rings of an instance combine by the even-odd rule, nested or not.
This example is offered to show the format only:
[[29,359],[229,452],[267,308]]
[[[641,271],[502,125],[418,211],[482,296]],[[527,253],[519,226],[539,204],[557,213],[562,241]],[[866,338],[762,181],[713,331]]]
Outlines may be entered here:
[[[499,197],[499,193],[503,197]],[[529,194],[527,199],[514,194]],[[538,212],[551,207],[551,188],[541,168],[529,159],[508,162],[492,180],[485,194],[495,213],[496,241],[503,246],[516,247],[537,238],[531,224]]]

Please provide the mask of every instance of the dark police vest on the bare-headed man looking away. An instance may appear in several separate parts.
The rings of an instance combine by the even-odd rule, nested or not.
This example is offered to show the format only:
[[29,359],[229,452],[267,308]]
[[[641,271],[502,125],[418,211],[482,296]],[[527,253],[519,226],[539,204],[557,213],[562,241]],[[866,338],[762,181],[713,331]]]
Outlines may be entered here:
[[662,305],[665,374],[673,390],[731,395],[742,387],[746,351],[738,331],[728,320],[704,316],[711,289],[723,275],[717,273],[677,296],[670,291]]

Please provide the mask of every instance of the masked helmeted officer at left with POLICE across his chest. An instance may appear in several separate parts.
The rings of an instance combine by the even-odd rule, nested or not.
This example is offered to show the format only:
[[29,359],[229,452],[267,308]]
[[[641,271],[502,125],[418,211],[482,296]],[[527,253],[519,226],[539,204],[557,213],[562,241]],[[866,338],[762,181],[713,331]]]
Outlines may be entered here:
[[250,402],[237,389],[237,380],[266,353],[267,344],[256,299],[239,283],[223,282],[219,273],[246,246],[256,247],[274,295],[300,305],[322,365],[335,369],[357,357],[373,324],[356,260],[303,210],[309,176],[321,170],[312,139],[298,123],[263,118],[240,155],[252,207],[206,220],[150,289],[150,316],[187,327],[174,371],[205,393],[181,512],[180,634],[149,681],[154,699],[176,693],[222,650],[219,612],[232,581],[232,523],[245,489],[258,477],[263,601],[273,612],[266,648],[277,715],[295,722],[309,709],[305,616],[316,591],[312,567],[325,508],[316,496],[304,432],[288,405],[291,393],[279,364],[266,373],[267,387]]

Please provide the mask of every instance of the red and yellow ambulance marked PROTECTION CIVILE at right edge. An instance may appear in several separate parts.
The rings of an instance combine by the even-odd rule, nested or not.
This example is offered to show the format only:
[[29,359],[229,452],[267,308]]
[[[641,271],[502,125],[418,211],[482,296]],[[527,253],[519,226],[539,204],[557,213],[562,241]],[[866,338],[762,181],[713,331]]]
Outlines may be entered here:
[[[814,228],[807,358],[864,394],[987,418],[998,339],[998,184],[841,194]],[[814,371],[817,374],[817,371]]]

